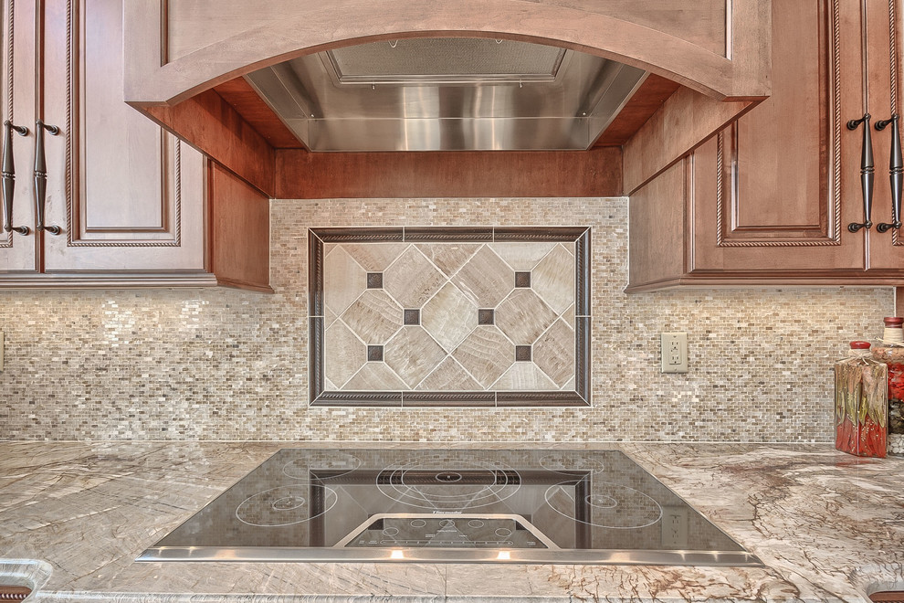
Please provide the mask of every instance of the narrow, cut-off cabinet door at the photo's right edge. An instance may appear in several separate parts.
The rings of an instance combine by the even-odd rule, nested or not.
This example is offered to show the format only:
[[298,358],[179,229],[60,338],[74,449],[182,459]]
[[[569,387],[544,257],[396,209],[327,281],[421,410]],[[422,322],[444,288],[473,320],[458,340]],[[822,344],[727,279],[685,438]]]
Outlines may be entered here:
[[[876,163],[876,192],[873,222],[868,234],[869,270],[904,270],[904,232],[889,229],[879,232],[878,225],[893,222],[891,184],[888,179],[892,128],[876,129],[878,122],[901,115],[904,100],[904,2],[867,0],[867,111],[873,119],[873,153]],[[899,122],[904,130],[904,121]]]

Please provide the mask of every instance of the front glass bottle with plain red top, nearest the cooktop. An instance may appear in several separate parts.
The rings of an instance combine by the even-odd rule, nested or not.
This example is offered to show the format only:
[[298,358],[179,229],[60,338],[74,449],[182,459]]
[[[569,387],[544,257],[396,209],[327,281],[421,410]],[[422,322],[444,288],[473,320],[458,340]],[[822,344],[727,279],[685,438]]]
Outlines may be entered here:
[[885,458],[888,447],[888,367],[867,342],[851,342],[835,365],[835,447],[860,457]]

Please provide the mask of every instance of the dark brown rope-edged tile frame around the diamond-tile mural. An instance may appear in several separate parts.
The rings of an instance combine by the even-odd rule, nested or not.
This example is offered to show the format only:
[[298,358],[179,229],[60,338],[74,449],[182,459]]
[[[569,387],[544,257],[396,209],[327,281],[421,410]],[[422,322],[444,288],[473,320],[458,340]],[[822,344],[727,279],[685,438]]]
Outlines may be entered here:
[[[589,407],[590,227],[308,228],[309,406]],[[573,391],[327,391],[324,386],[324,243],[574,243]]]

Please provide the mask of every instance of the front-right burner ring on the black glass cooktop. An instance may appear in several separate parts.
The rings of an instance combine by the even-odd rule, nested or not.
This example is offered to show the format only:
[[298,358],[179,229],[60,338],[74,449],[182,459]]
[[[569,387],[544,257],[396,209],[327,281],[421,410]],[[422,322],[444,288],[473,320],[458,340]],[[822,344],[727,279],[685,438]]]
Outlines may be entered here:
[[[610,511],[614,511],[615,513],[620,512],[620,507],[624,507],[627,513],[643,513],[645,516],[639,517],[638,521],[633,523],[625,524],[625,516],[620,518],[620,521],[623,523],[622,525],[614,525],[615,522],[609,522],[608,524],[601,523],[603,520],[593,520],[585,521],[578,517],[575,517],[573,514],[564,513],[562,509],[559,508],[560,505],[556,505],[552,502],[552,497],[562,492],[565,497],[569,499],[570,504],[561,505],[564,508],[573,511],[575,508],[574,499],[571,497],[571,494],[568,492],[566,486],[573,486],[573,482],[563,481],[561,483],[554,484],[546,489],[546,492],[543,494],[543,498],[546,500],[546,503],[552,508],[553,511],[559,513],[560,515],[567,517],[573,522],[577,522],[579,524],[587,524],[593,525],[594,527],[601,527],[610,530],[640,530],[651,525],[655,525],[662,520],[663,512],[662,505],[657,503],[657,501],[647,495],[644,492],[640,492],[630,486],[625,486],[624,484],[615,483],[614,481],[595,481],[594,488],[597,492],[587,494],[584,496],[584,503],[588,507],[590,513],[594,513],[594,510],[597,512],[607,513]],[[598,492],[601,488],[609,488],[608,492]],[[631,497],[634,498],[631,501]],[[628,504],[629,502],[635,504]],[[593,517],[593,515],[591,515]]]

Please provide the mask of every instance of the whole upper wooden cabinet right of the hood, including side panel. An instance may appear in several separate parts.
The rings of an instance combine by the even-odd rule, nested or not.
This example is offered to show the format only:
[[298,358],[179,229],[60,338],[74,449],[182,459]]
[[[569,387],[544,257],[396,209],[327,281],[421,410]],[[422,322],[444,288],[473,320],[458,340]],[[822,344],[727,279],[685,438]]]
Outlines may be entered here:
[[628,291],[904,282],[904,235],[878,228],[894,127],[876,127],[900,112],[901,16],[900,0],[773,0],[772,96],[632,196]]

